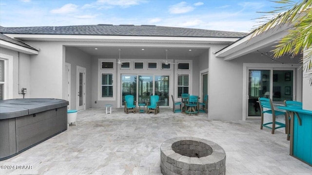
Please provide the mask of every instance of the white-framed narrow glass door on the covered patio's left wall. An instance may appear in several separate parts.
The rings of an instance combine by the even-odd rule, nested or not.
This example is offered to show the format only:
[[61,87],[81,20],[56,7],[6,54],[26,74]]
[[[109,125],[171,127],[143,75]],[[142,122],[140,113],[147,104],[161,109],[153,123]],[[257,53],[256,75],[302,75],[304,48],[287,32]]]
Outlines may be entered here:
[[86,109],[86,69],[77,66],[77,110]]

